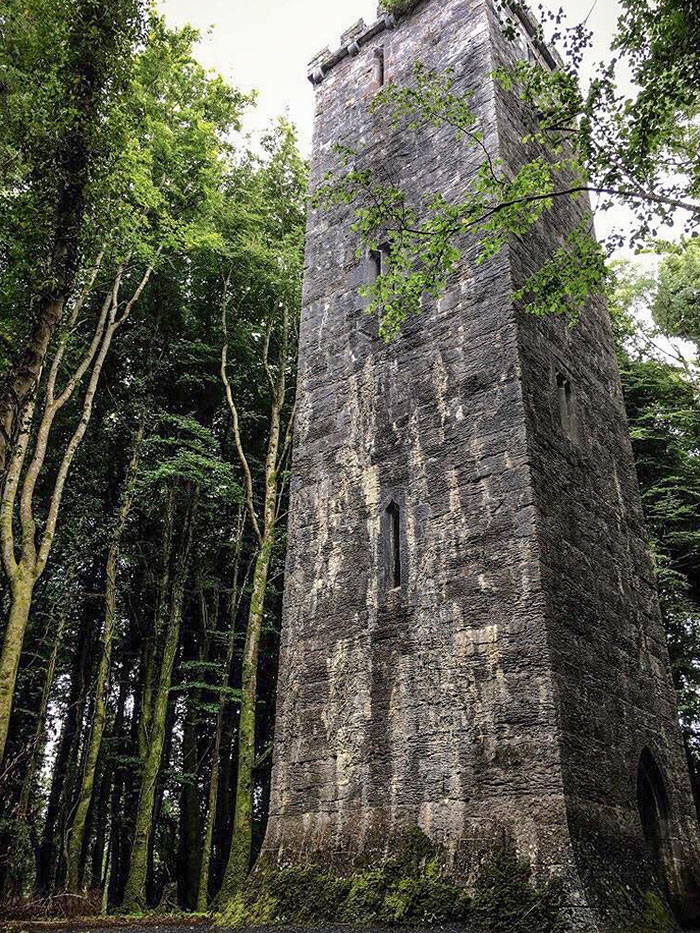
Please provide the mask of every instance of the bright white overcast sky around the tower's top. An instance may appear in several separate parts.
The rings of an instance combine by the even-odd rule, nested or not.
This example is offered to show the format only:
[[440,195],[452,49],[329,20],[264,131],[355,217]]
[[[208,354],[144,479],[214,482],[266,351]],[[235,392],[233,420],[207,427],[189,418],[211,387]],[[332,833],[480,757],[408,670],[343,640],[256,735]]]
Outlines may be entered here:
[[[579,22],[593,0],[556,0]],[[536,4],[535,4],[536,5]],[[302,149],[311,140],[313,88],[306,65],[360,17],[374,22],[377,0],[160,0],[172,25],[191,23],[202,32],[199,57],[239,87],[260,92],[247,120],[253,131],[287,112],[299,128]],[[617,0],[597,0],[589,23],[596,53],[605,54],[617,17]]]

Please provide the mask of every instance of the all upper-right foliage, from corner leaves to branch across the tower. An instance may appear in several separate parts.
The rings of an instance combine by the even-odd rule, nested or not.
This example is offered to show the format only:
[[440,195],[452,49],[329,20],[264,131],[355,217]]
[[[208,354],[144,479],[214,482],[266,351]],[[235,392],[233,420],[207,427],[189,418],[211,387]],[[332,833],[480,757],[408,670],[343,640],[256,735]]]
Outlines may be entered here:
[[[385,4],[392,12],[412,6]],[[507,39],[519,34],[519,6],[498,4]],[[376,95],[372,110],[388,115],[395,129],[454,130],[462,140],[464,163],[476,160],[480,167],[470,169],[456,199],[433,193],[414,203],[371,153],[338,147],[338,168],[319,187],[316,206],[353,207],[359,252],[388,244],[388,272],[365,289],[367,312],[378,314],[385,338],[420,313],[426,297],[442,295],[466,244],[477,244],[478,262],[492,259],[513,237],[534,232],[560,199],[593,192],[603,210],[624,203],[636,219],[627,237],[632,243],[678,214],[689,227],[697,225],[697,16],[687,0],[665,0],[653,13],[647,4],[625,0],[622,10],[618,58],[601,63],[587,86],[580,69],[590,33],[584,25],[565,29],[561,13],[549,19],[567,54],[562,67],[520,61],[515,50],[498,65],[500,93],[520,101],[526,124],[522,162],[508,170],[484,145],[471,94],[455,90],[452,71],[429,72],[419,63],[411,81],[391,82]],[[634,97],[617,88],[620,59],[638,81]],[[608,247],[624,239],[616,234]],[[514,297],[533,314],[564,313],[575,322],[586,301],[606,290],[604,256],[590,225],[578,226]]]

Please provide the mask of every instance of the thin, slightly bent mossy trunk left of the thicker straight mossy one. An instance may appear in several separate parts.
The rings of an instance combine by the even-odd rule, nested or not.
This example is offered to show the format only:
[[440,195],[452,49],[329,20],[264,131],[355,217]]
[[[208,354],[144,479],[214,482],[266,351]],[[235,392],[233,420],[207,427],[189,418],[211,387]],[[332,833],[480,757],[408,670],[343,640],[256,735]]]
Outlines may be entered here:
[[97,671],[95,684],[95,708],[92,719],[92,729],[88,742],[88,750],[80,782],[78,803],[73,817],[68,837],[66,890],[70,894],[78,894],[81,888],[82,853],[85,843],[85,826],[88,812],[92,802],[92,793],[95,786],[97,762],[102,748],[105,723],[107,721],[107,693],[109,689],[109,675],[112,666],[112,646],[114,643],[114,629],[117,620],[117,571],[119,566],[119,551],[122,534],[134,503],[134,481],[138,470],[141,443],[145,433],[145,421],[142,420],[136,434],[134,452],[127,470],[122,502],[119,507],[117,526],[107,553],[107,568],[105,580],[105,621],[102,633],[102,651],[100,665]]

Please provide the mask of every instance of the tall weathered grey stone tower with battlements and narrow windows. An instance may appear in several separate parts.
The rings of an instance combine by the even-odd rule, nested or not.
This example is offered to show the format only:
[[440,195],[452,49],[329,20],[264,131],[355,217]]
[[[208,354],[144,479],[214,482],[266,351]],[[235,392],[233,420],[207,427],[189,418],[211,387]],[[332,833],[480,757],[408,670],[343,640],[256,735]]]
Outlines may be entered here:
[[[416,61],[455,70],[517,166],[525,115],[491,75],[555,64],[520,25],[423,0],[349,30],[312,63],[312,184],[342,142],[416,201],[459,196],[474,148],[369,109]],[[265,851],[352,864],[418,826],[466,878],[506,834],[608,931],[655,860],[692,913],[700,842],[606,308],[570,329],[512,298],[588,212],[562,202],[483,265],[467,248],[389,345],[350,210],[311,212]]]

